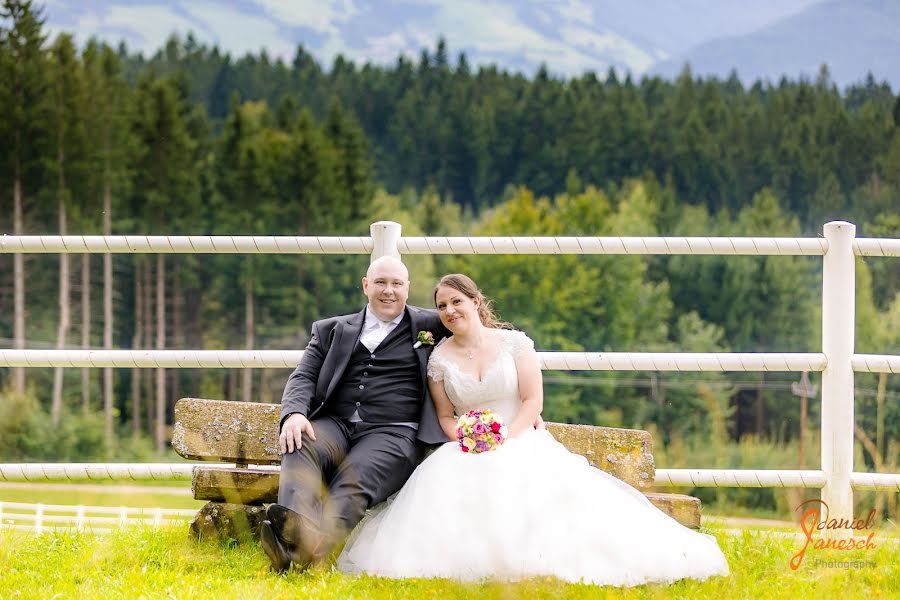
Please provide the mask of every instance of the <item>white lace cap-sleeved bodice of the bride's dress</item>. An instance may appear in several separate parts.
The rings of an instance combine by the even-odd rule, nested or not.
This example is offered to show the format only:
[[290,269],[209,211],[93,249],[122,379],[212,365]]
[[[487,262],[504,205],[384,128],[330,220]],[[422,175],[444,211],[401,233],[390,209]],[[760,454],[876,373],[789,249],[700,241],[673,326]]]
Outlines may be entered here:
[[444,356],[441,346],[431,353],[428,376],[434,381],[444,382],[444,389],[457,415],[470,410],[490,409],[509,424],[522,404],[516,359],[522,352],[533,349],[534,342],[521,331],[498,331],[503,336],[500,351],[485,369],[481,381]]

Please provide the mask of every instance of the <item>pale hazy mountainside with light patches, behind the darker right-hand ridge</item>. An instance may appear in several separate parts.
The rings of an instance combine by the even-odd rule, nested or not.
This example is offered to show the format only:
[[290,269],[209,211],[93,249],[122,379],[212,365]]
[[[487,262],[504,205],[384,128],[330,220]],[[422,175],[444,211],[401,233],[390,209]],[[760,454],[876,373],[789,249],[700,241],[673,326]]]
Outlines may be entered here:
[[[45,0],[47,27],[150,55],[172,32],[234,56],[298,44],[325,65],[337,54],[390,63],[443,36],[453,55],[529,72],[643,74],[718,36],[742,35],[823,0]],[[41,4],[39,2],[39,4]]]

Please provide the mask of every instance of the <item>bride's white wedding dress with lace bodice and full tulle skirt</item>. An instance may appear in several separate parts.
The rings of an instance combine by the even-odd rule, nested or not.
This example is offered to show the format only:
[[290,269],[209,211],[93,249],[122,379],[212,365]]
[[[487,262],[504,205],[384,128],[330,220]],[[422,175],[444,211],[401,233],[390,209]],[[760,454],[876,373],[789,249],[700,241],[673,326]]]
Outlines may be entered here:
[[[518,331],[503,335],[482,381],[440,346],[432,352],[428,375],[444,381],[457,414],[489,408],[507,425],[515,418],[515,357],[533,343]],[[443,444],[393,498],[369,511],[338,567],[392,578],[555,576],[616,586],[728,574],[713,537],[682,526],[544,430],[482,454]]]

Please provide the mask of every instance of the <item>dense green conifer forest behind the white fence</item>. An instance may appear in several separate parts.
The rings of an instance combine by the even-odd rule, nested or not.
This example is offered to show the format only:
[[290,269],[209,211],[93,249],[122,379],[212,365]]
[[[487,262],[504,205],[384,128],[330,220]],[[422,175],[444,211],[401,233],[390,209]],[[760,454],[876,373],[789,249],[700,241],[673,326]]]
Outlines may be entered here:
[[[145,57],[51,39],[40,5],[4,0],[0,106],[9,235],[366,236],[393,220],[405,235],[814,237],[842,219],[900,238],[900,97],[865,73],[839,90],[825,67],[750,87],[687,66],[674,81],[559,78],[473,67],[443,40],[417,60],[325,66],[302,46],[285,62],[191,36]],[[430,306],[441,274],[468,273],[539,350],[821,348],[820,257],[406,260],[413,303]],[[302,349],[312,321],[362,308],[367,261],[0,254],[0,338]],[[856,351],[900,353],[900,261],[859,259],[856,283]],[[0,369],[0,460],[152,457],[178,398],[278,402],[288,374]],[[545,418],[651,429],[669,456],[693,447],[722,463],[733,442],[796,444],[798,380],[546,372]],[[858,374],[856,387],[858,470],[897,465],[900,380]],[[814,430],[816,398],[809,411]],[[796,452],[746,466],[798,466],[784,456]]]

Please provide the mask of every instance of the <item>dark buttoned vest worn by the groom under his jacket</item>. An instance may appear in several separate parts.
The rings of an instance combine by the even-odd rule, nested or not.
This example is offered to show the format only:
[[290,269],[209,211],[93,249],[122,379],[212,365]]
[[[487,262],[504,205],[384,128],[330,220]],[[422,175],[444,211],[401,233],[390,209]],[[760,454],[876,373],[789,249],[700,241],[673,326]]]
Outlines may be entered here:
[[423,391],[407,315],[373,352],[356,341],[347,369],[325,408],[344,419],[359,411],[367,423],[418,422]]

